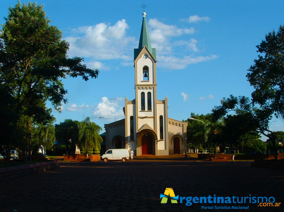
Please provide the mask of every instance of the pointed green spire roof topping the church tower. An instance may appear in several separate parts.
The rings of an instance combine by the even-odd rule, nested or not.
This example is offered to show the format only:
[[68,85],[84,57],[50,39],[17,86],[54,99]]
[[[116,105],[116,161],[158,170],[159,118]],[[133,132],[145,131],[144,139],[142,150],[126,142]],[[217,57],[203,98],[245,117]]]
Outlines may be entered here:
[[138,49],[134,49],[134,60],[137,58],[138,54],[144,48],[144,46],[147,47],[148,51],[151,53],[151,55],[156,60],[156,49],[151,47],[151,41],[149,37],[145,12],[143,13],[143,20],[142,20],[142,27],[141,27],[141,32],[140,32]]

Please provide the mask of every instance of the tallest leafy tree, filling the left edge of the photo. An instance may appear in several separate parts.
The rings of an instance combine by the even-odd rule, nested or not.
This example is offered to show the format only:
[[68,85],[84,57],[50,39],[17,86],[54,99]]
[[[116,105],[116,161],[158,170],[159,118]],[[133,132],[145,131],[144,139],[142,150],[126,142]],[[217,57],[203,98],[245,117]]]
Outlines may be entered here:
[[9,153],[21,116],[47,124],[52,116],[45,102],[59,111],[61,102],[67,102],[60,79],[69,75],[87,81],[99,71],[82,65],[80,57],[66,56],[69,43],[62,40],[62,31],[49,25],[43,5],[18,2],[5,21],[0,31],[0,123],[6,135],[0,146]]

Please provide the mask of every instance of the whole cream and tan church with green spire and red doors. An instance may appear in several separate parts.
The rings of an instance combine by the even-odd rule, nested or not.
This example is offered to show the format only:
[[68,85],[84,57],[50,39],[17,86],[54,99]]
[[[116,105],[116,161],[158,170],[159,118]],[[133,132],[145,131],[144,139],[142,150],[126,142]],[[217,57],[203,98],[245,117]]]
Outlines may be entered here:
[[125,97],[124,119],[105,124],[106,150],[126,148],[137,156],[184,154],[187,122],[168,117],[167,96],[157,100],[156,49],[151,47],[145,15],[134,49],[135,99]]

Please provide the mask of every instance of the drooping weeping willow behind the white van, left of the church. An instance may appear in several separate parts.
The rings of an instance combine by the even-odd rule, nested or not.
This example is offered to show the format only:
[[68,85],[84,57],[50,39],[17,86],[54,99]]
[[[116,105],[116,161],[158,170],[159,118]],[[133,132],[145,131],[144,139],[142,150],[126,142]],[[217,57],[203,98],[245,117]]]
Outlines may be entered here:
[[[98,126],[94,122],[90,121],[90,117],[86,117],[85,120],[79,123],[79,147],[86,153],[98,154],[101,150],[102,137],[99,132],[102,127]],[[93,151],[94,150],[94,151]]]

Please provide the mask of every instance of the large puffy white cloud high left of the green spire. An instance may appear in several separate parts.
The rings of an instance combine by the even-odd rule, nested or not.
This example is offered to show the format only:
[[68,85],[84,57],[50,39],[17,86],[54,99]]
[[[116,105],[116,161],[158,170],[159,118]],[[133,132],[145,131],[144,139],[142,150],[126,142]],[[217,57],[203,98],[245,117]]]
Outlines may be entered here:
[[[115,25],[100,23],[73,29],[77,37],[66,37],[70,43],[68,56],[83,56],[98,59],[132,59],[129,44],[134,43],[134,37],[127,37],[128,24],[125,19],[117,21]],[[94,62],[95,63],[95,62]]]

